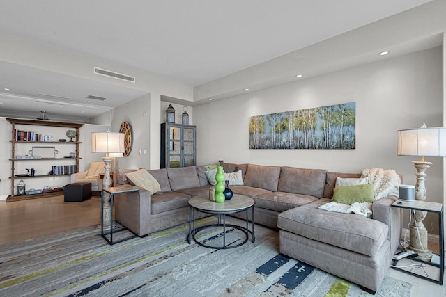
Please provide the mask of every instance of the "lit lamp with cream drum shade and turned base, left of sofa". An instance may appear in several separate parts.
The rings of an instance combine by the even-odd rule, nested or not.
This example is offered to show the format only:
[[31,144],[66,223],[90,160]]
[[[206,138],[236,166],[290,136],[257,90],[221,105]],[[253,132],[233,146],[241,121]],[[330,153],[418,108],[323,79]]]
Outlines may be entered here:
[[[112,178],[110,177],[110,163],[112,163],[114,159],[113,154],[124,152],[124,134],[110,131],[91,133],[91,152],[105,153],[105,156],[102,156],[102,161],[105,163],[102,188],[109,188],[112,184]],[[104,193],[104,195],[102,195],[102,218],[104,228],[107,229],[110,227],[109,222],[111,216],[109,201],[110,195]]]

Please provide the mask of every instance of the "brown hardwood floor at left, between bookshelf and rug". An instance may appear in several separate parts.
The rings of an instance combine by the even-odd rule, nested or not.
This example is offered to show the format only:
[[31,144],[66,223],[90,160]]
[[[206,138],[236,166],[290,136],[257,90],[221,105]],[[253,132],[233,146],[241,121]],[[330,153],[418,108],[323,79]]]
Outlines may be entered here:
[[100,197],[63,202],[63,195],[0,201],[0,245],[100,223]]

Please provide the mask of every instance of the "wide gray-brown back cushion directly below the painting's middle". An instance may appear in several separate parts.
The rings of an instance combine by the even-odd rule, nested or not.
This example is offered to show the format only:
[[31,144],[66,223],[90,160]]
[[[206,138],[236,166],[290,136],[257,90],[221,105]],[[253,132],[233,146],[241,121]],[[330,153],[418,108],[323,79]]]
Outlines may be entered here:
[[327,170],[282,167],[277,191],[322,198]]

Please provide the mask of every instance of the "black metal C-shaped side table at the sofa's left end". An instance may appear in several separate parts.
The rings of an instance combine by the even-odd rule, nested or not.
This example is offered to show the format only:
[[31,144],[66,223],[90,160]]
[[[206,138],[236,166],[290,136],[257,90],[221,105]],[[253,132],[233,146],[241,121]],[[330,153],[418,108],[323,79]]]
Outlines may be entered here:
[[[134,234],[134,236],[128,236],[124,239],[119,239],[118,241],[113,241],[113,199],[114,195],[116,194],[123,194],[123,193],[132,193],[132,192],[138,192],[139,188],[136,186],[130,186],[128,184],[125,184],[123,186],[115,186],[110,188],[102,188],[101,192],[101,203],[100,203],[100,235],[103,239],[105,239],[109,244],[118,243],[121,241],[125,241],[128,239],[132,239],[134,237],[137,237],[137,235]],[[104,232],[104,193],[108,193],[110,195],[110,230],[108,232]],[[115,232],[128,230],[125,227],[119,227],[116,228]],[[110,239],[107,238],[106,235],[110,235]]]

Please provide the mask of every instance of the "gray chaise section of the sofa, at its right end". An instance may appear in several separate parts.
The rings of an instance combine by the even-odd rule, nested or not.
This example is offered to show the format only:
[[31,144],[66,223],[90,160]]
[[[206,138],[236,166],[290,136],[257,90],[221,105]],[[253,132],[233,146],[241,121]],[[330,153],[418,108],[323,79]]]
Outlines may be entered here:
[[327,173],[322,198],[278,215],[280,252],[359,284],[374,294],[397,251],[401,236],[401,211],[392,208],[390,196],[372,204],[373,218],[318,209],[328,203],[337,176]]

